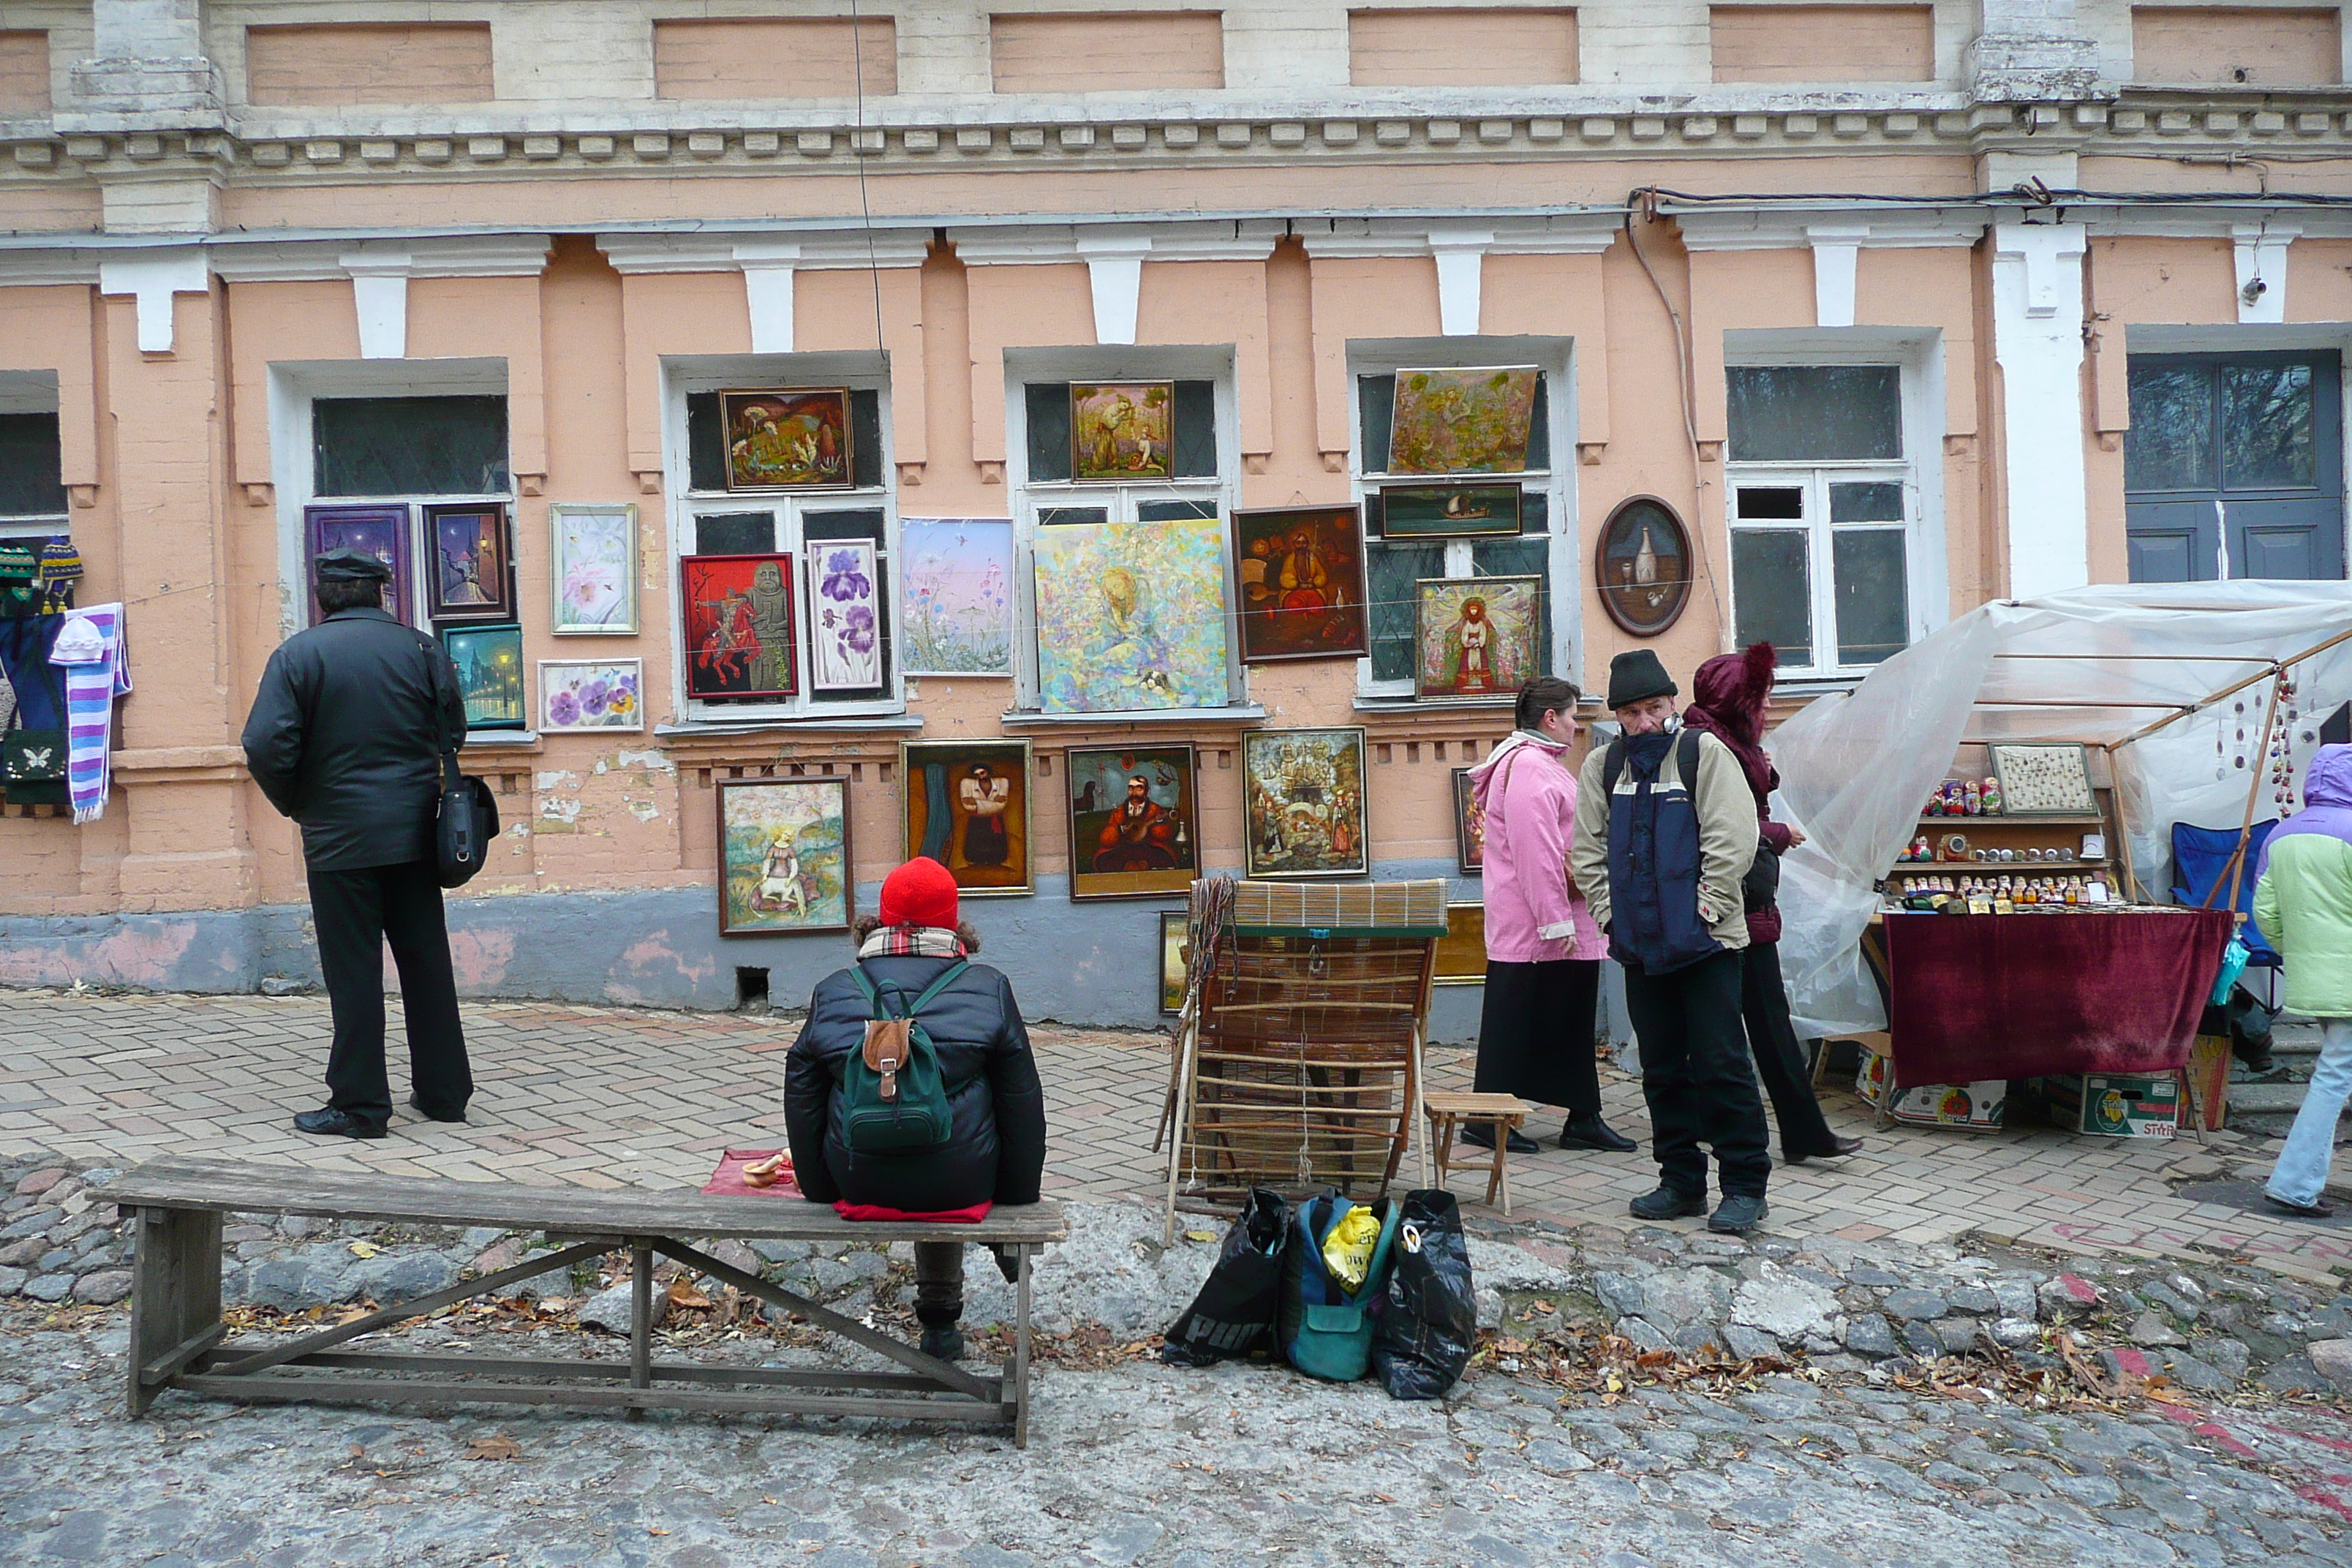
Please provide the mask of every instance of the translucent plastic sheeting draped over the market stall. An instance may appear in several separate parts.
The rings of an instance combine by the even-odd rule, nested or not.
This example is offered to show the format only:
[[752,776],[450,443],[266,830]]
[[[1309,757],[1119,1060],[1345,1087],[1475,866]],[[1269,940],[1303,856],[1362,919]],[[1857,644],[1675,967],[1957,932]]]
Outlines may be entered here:
[[1797,1032],[1886,1027],[1860,952],[1875,884],[1919,832],[1919,804],[1964,741],[2114,745],[2131,865],[2140,891],[2164,898],[2173,823],[2237,827],[2249,790],[2253,820],[2279,813],[2263,755],[2272,665],[2307,656],[2288,668],[2300,766],[2314,750],[2303,731],[2352,701],[2352,642],[2312,654],[2345,632],[2345,583],[2077,588],[1971,609],[1851,693],[1811,703],[1766,741],[1780,769],[1773,813],[1806,835],[1780,860]]

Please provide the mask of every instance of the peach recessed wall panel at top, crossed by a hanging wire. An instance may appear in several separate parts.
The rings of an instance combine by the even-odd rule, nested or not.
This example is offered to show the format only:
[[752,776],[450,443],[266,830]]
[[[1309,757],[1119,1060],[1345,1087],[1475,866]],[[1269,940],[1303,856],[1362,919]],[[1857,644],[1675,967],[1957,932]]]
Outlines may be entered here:
[[898,24],[889,16],[654,24],[659,99],[849,99],[861,89],[898,92]]

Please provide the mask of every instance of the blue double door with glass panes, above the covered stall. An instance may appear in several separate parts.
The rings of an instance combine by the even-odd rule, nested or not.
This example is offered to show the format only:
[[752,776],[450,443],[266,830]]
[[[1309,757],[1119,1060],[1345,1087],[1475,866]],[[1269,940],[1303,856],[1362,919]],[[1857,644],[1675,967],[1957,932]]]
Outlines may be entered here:
[[2124,529],[2133,583],[2343,578],[2338,355],[2131,355]]

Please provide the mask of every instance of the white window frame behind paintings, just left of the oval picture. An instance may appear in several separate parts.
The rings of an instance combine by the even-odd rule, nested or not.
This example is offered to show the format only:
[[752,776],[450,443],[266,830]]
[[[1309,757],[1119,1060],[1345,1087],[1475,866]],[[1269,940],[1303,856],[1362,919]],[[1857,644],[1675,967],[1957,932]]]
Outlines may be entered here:
[[[1581,531],[1576,520],[1576,341],[1573,339],[1350,339],[1348,341],[1348,489],[1355,496],[1357,512],[1367,496],[1376,496],[1381,484],[1439,484],[1428,475],[1388,475],[1364,473],[1364,397],[1359,381],[1364,376],[1392,376],[1399,369],[1475,369],[1489,364],[1534,364],[1543,371],[1548,421],[1545,433],[1552,444],[1550,468],[1529,468],[1522,473],[1496,473],[1496,475],[1463,475],[1463,480],[1508,484],[1517,482],[1522,491],[1536,491],[1545,498],[1545,531],[1534,538],[1545,538],[1550,552],[1545,557],[1545,592],[1552,599],[1552,658],[1550,668],[1571,682],[1583,682],[1583,574],[1578,559],[1583,555]],[[1369,534],[1359,534],[1364,550],[1364,592],[1371,592],[1371,552],[1385,548],[1374,543]],[[1444,543],[1446,548],[1446,576],[1475,576],[1472,550],[1484,543],[1510,543],[1512,536],[1489,536],[1489,538],[1449,538],[1449,541],[1418,541],[1418,543]],[[1517,534],[1517,538],[1531,538],[1529,534]],[[1369,607],[1367,607],[1369,614]],[[1369,625],[1367,625],[1369,632]],[[1414,679],[1374,679],[1371,654],[1355,661],[1355,691],[1359,703],[1411,703]],[[1508,693],[1491,698],[1486,705],[1508,708],[1512,698]],[[1477,703],[1463,703],[1461,698],[1444,698],[1442,703],[1425,703],[1428,708],[1465,708]]]

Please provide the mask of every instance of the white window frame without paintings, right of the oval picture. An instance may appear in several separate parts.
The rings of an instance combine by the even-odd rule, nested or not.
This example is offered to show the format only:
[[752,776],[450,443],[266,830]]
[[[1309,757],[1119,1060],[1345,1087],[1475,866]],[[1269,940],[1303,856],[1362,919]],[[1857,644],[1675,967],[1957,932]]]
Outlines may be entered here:
[[[1813,658],[1797,665],[1783,658],[1783,679],[1853,682],[1877,663],[1844,663],[1837,651],[1837,571],[1835,536],[1839,531],[1886,529],[1884,522],[1830,522],[1832,482],[1903,484],[1903,628],[1905,646],[1919,642],[1950,618],[1950,567],[1945,559],[1943,508],[1943,334],[1900,329],[1748,329],[1724,334],[1724,371],[1743,367],[1813,367],[1879,364],[1896,369],[1896,395],[1903,400],[1898,430],[1900,458],[1755,463],[1731,456],[1724,440],[1724,597],[1731,625],[1738,628],[1738,585],[1731,569],[1733,534],[1743,529],[1806,529],[1811,569]],[[1740,487],[1804,489],[1804,520],[1740,520]],[[1884,661],[1882,661],[1884,663]]]

